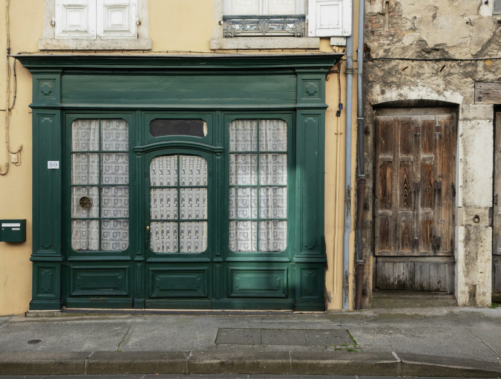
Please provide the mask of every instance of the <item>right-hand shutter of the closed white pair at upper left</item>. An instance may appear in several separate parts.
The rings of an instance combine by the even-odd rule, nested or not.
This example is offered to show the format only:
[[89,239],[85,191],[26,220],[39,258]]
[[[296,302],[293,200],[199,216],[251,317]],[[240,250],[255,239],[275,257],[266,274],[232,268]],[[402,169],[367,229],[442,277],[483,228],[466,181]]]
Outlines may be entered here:
[[96,13],[98,38],[136,36],[135,0],[97,0]]

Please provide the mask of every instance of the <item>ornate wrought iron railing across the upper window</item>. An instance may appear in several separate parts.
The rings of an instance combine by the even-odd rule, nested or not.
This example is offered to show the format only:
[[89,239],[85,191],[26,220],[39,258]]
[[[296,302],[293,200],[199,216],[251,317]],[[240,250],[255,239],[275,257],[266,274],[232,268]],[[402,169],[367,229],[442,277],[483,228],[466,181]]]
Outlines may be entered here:
[[304,14],[231,15],[222,18],[224,36],[227,38],[253,35],[294,37],[305,35]]

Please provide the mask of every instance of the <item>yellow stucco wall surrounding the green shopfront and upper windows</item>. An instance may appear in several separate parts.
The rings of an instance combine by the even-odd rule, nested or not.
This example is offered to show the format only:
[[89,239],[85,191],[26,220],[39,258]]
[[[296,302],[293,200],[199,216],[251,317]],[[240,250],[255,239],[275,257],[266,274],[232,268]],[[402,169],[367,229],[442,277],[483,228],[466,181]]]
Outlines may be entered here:
[[[0,4],[0,51],[7,48],[6,1]],[[355,1],[356,2],[356,1]],[[11,1],[9,6],[11,53],[19,51],[38,51],[38,40],[44,28],[44,1]],[[152,51],[149,54],[211,52],[209,41],[216,26],[214,6],[217,0],[149,0],[149,37],[152,39]],[[357,8],[355,6],[355,12]],[[186,17],[173,15],[189,14],[189,27]],[[356,13],[355,13],[356,14]],[[166,22],[166,17],[169,22]],[[356,28],[356,24],[355,24]],[[356,43],[356,41],[355,41]],[[343,47],[339,49],[342,51]],[[333,48],[329,38],[322,38],[320,51],[331,52]],[[89,52],[89,51],[86,51]],[[266,50],[239,50],[238,53],[269,52]],[[274,52],[282,52],[274,50]],[[291,52],[290,50],[283,52]],[[304,50],[298,53],[306,52]],[[310,50],[311,52],[311,50]],[[57,53],[57,52],[55,52]],[[103,51],[100,51],[103,53]],[[116,52],[112,52],[116,53]],[[133,52],[134,53],[134,52]],[[137,52],[145,53],[145,52]],[[5,55],[1,55],[5,56]],[[0,61],[0,109],[6,105],[6,58]],[[11,68],[14,59],[10,59]],[[0,242],[0,315],[17,314],[28,310],[31,299],[32,264],[32,119],[28,106],[32,97],[31,75],[19,62],[16,64],[17,99],[10,119],[11,148],[23,144],[21,164],[9,165],[9,172],[0,176],[0,219],[26,218],[27,241],[23,243]],[[13,97],[13,75],[11,75],[10,105]],[[346,106],[346,80],[344,64],[341,68],[341,102]],[[336,73],[329,75],[326,85],[326,160],[325,160],[325,238],[327,247],[326,291],[331,301],[329,309],[338,309],[342,305],[342,251],[344,229],[344,147],[345,147],[345,112],[336,117],[338,104],[338,78]],[[353,80],[353,123],[352,123],[352,188],[355,182],[356,165],[356,79]],[[7,148],[3,143],[5,135],[5,111],[0,111],[0,169],[5,169]],[[9,154],[10,161],[10,154]],[[352,213],[354,192],[352,190]],[[336,207],[336,204],[338,205]],[[352,214],[354,218],[354,214]],[[353,225],[353,220],[352,220]],[[352,226],[353,228],[353,226]],[[353,257],[354,233],[351,233],[350,253]],[[353,261],[353,259],[350,259]],[[353,269],[351,267],[350,272]],[[353,306],[352,277],[350,278],[350,305]]]

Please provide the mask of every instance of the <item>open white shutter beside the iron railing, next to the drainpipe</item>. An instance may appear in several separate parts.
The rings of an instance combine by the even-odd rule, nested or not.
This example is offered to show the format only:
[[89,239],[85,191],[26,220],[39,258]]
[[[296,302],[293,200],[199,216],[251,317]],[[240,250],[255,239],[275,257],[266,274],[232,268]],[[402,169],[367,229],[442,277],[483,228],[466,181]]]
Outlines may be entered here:
[[308,0],[308,36],[351,35],[352,0]]

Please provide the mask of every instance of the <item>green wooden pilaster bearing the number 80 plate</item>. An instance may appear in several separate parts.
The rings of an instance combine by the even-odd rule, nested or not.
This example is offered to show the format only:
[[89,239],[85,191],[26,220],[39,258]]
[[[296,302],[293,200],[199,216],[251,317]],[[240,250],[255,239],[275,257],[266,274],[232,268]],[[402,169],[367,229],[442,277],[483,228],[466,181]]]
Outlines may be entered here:
[[[33,72],[33,287],[30,309],[60,309],[62,161],[60,71]],[[57,160],[60,168],[48,168]]]

